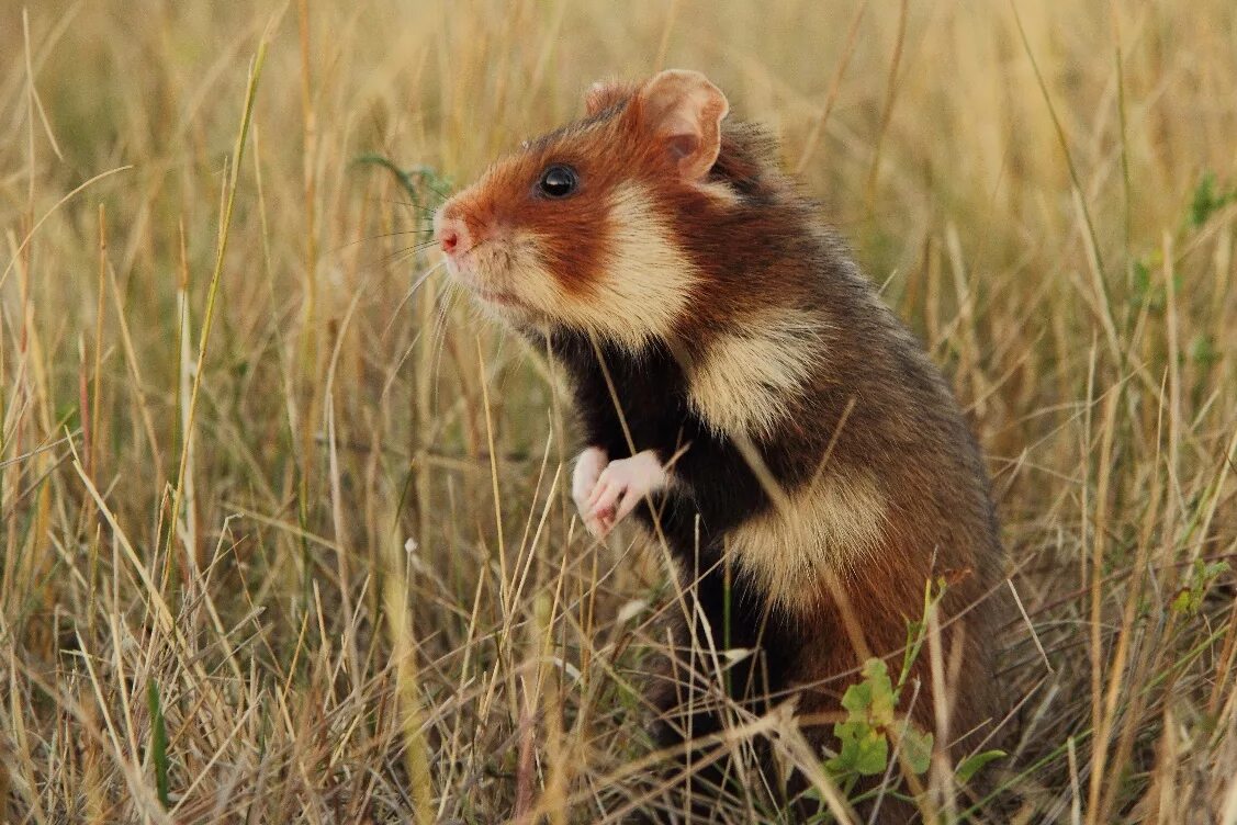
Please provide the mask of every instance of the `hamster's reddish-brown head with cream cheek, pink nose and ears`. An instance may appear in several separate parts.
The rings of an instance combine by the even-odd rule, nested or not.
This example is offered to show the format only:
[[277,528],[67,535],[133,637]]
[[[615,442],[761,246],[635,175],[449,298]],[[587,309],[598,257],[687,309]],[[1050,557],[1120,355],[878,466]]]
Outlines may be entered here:
[[599,83],[585,104],[583,120],[444,203],[434,231],[450,276],[505,320],[636,350],[669,335],[706,286],[680,218],[734,199],[708,181],[730,106],[685,71]]

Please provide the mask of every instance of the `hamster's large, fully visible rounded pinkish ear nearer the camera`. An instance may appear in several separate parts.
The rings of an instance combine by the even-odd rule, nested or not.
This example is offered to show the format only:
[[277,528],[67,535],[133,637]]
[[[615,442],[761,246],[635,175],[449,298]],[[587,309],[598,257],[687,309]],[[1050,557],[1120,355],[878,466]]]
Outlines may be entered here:
[[662,141],[685,181],[699,181],[721,151],[730,103],[699,72],[667,69],[640,90],[641,125]]

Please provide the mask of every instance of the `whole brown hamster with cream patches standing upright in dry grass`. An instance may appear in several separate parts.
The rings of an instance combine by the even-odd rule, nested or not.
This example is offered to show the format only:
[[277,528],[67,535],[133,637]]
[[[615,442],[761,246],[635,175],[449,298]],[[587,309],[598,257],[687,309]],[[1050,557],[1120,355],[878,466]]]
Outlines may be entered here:
[[[965,754],[1002,720],[1008,615],[987,475],[948,385],[704,75],[599,84],[586,109],[449,199],[435,231],[452,277],[569,374],[585,524],[633,513],[670,549],[695,618],[651,691],[659,742],[724,726],[716,690],[688,700],[693,669],[757,714],[793,698],[808,741],[836,747],[865,656],[897,679],[945,579],[948,695],[925,649],[898,711]],[[755,653],[719,677],[709,648]],[[756,752],[773,776],[771,746]],[[694,773],[705,794],[729,793],[719,764]]]

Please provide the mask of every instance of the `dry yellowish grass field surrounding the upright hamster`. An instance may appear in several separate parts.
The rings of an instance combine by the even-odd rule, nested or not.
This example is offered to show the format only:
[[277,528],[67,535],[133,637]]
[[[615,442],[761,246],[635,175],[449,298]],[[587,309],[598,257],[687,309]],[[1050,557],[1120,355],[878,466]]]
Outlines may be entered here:
[[779,135],[988,455],[1021,733],[925,819],[1237,823],[1230,0],[6,2],[0,820],[638,804],[664,578],[419,245],[670,66]]

